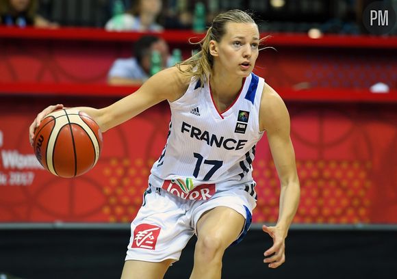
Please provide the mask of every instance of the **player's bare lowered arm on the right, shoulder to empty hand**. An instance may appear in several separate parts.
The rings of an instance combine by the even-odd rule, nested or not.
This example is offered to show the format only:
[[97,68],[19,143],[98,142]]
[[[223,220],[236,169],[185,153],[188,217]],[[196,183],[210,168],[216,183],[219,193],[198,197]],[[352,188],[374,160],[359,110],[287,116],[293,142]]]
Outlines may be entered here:
[[300,186],[296,172],[295,153],[290,138],[290,116],[279,94],[265,85],[261,99],[259,122],[261,130],[266,130],[274,165],[281,183],[279,220],[276,226],[264,226],[263,230],[274,244],[265,252],[269,267],[278,267],[285,261],[285,238],[292,223],[300,198]]

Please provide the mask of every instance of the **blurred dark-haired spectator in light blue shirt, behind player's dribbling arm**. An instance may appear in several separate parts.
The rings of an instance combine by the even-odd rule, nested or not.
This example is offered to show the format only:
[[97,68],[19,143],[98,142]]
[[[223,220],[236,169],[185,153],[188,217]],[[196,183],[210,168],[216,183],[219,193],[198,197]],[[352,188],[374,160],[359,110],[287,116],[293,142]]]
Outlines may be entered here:
[[119,58],[107,75],[111,85],[140,85],[150,77],[151,57],[158,51],[162,57],[162,68],[172,66],[168,44],[157,36],[142,36],[133,46],[134,57]]

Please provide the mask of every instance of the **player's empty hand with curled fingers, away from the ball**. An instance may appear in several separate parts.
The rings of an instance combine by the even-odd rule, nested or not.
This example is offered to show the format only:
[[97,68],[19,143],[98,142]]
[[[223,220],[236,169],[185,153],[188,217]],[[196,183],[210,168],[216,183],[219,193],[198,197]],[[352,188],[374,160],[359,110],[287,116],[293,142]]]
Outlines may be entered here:
[[[264,253],[264,263],[269,263],[269,267],[276,268],[285,262],[285,230],[277,226],[262,226],[262,230],[268,233],[273,239],[273,245]],[[270,256],[271,255],[271,256]]]

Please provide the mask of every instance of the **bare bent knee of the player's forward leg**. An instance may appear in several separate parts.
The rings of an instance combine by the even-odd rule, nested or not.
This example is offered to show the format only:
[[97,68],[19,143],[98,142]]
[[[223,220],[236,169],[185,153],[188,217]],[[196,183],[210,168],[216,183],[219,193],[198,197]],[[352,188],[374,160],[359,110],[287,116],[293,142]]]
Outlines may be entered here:
[[225,249],[222,237],[216,234],[199,237],[196,242],[196,255],[203,261],[220,260]]

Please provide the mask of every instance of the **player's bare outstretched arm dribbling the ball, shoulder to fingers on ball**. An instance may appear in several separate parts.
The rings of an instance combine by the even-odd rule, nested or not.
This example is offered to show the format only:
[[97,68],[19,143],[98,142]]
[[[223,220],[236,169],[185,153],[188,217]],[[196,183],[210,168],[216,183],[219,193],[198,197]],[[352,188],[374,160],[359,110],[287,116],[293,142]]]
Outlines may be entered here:
[[[86,112],[99,125],[101,131],[105,132],[118,124],[121,124],[142,111],[168,99],[175,101],[188,87],[188,79],[184,77],[176,67],[168,68],[158,72],[148,79],[136,92],[120,99],[116,103],[102,109],[92,107],[76,107]],[[62,109],[63,105],[52,105],[44,109],[29,127],[29,138],[31,143],[34,131],[40,125],[41,120],[55,109]]]

